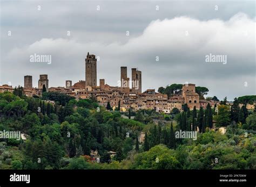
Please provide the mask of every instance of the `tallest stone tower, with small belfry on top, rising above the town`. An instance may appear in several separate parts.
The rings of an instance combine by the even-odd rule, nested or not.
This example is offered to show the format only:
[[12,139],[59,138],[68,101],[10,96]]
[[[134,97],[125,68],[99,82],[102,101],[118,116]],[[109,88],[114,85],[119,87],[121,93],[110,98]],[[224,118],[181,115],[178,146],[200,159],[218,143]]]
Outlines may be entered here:
[[87,53],[85,59],[85,86],[97,86],[97,59],[95,55]]

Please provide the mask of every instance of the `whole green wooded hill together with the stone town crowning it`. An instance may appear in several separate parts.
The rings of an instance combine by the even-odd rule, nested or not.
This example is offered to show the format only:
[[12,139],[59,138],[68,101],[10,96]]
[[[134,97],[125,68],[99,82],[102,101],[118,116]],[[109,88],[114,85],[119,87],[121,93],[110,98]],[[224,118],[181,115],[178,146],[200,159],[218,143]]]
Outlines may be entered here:
[[99,83],[88,53],[85,81],[49,88],[40,75],[35,88],[26,75],[24,88],[0,86],[0,169],[255,168],[255,96],[204,99],[191,83],[142,91],[142,71],[130,80],[127,67],[118,86]]

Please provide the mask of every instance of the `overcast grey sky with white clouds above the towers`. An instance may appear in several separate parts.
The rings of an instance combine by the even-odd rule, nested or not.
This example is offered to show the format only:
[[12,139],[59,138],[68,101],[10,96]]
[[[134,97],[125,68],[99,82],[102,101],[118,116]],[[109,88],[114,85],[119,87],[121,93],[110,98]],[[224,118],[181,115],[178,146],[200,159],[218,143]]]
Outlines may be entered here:
[[[117,85],[127,66],[129,77],[142,71],[143,90],[188,82],[219,99],[256,94],[255,1],[0,2],[1,85],[32,75],[38,87],[39,74],[49,87],[85,80],[89,52],[100,59],[98,84]],[[35,53],[51,64],[30,62]],[[206,62],[210,54],[227,63]]]

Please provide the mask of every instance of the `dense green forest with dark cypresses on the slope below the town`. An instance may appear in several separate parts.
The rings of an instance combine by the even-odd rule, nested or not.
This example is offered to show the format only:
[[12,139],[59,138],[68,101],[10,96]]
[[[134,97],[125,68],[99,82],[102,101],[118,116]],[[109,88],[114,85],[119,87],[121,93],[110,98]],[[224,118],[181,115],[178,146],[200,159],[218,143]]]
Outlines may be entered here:
[[[0,139],[0,169],[256,169],[256,111],[239,102],[235,98],[230,107],[224,99],[206,110],[185,104],[183,111],[164,114],[120,112],[120,106],[113,111],[109,104],[107,110],[93,97],[76,100],[57,92],[3,92],[0,131],[20,131],[26,139]],[[197,140],[175,136],[197,128]],[[91,161],[91,150],[99,162]]]

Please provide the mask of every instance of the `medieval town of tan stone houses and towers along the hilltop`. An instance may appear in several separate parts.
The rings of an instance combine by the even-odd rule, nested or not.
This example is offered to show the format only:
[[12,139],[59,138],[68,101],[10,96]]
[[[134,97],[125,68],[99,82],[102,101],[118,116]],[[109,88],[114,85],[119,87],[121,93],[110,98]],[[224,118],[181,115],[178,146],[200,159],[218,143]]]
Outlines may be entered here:
[[[38,87],[32,85],[32,76],[24,76],[24,93],[27,96],[41,95],[43,88],[46,91],[61,92],[76,97],[77,99],[95,97],[100,105],[106,106],[107,102],[115,109],[120,102],[120,110],[127,111],[153,109],[158,112],[170,113],[174,107],[181,110],[185,103],[193,109],[204,109],[209,103],[211,107],[219,104],[215,100],[199,99],[195,84],[184,84],[180,94],[168,97],[166,94],[156,92],[155,89],[147,89],[142,92],[142,71],[132,68],[131,80],[127,76],[127,67],[120,67],[120,81],[118,86],[105,84],[105,79],[99,80],[97,85],[97,58],[93,54],[87,53],[85,59],[85,81],[72,84],[71,80],[66,80],[65,87],[50,87],[48,75],[39,75]],[[130,85],[131,83],[131,85]],[[130,88],[131,86],[131,88]],[[0,92],[10,91],[14,88],[4,84],[0,86]]]

